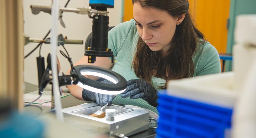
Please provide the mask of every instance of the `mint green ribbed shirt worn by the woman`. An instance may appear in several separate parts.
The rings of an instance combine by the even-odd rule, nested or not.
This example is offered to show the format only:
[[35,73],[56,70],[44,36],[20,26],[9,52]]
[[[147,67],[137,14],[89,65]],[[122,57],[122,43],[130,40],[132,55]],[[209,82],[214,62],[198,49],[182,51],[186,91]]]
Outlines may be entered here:
[[[139,79],[135,75],[133,67],[131,68],[138,38],[139,34],[133,19],[119,24],[108,33],[108,48],[113,51],[116,60],[111,70],[122,75],[126,81]],[[198,50],[192,58],[195,67],[193,76],[220,73],[221,71],[219,54],[209,42],[204,43],[203,46],[198,46]],[[152,83],[152,86],[160,91],[158,86],[163,86],[166,81],[152,76]],[[121,98],[120,95],[117,95],[113,99],[113,104],[134,105],[158,113],[155,107],[141,98]]]

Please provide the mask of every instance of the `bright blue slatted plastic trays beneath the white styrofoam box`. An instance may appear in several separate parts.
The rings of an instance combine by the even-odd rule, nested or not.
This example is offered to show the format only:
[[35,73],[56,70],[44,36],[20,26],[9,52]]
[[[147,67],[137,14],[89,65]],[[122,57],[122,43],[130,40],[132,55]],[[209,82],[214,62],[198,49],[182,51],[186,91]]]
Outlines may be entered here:
[[231,127],[233,110],[177,98],[158,95],[158,138],[224,138]]

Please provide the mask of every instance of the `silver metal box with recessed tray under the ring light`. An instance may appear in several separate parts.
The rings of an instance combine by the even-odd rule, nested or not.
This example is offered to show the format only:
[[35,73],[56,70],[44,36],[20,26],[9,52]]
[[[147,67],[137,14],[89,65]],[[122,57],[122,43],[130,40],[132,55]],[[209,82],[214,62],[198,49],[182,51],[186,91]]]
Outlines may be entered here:
[[96,103],[86,103],[74,107],[64,108],[64,122],[81,131],[90,130],[95,133],[125,134],[130,136],[149,127],[149,112],[111,105],[107,109],[115,109],[114,121],[106,118],[89,116],[100,110]]

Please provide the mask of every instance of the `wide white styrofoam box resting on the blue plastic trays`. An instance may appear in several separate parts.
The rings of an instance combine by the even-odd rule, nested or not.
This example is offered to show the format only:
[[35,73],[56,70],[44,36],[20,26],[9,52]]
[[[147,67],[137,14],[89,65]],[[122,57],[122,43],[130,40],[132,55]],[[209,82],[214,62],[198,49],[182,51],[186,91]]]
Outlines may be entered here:
[[233,108],[238,95],[234,90],[234,72],[171,80],[167,94],[225,108]]

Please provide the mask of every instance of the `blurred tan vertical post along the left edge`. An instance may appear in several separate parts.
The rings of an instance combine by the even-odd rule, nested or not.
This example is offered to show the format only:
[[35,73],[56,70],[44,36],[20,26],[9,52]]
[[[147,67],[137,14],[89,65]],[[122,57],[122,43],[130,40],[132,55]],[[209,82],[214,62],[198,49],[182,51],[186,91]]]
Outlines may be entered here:
[[23,108],[22,0],[0,0],[0,97]]

